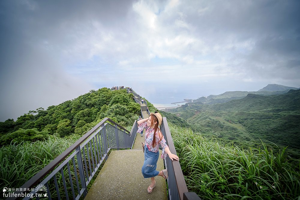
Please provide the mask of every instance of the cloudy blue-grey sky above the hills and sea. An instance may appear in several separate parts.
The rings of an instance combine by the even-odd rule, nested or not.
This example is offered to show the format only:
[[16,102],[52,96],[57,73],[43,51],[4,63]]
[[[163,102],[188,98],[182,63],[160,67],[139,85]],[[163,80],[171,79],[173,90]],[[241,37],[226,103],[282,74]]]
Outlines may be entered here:
[[0,1],[0,121],[102,87],[152,103],[300,87],[300,1]]

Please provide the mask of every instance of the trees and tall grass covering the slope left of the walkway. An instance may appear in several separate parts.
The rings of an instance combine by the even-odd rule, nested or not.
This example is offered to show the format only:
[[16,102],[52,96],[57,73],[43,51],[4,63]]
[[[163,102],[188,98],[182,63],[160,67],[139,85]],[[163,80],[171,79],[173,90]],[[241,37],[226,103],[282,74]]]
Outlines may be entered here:
[[29,111],[15,122],[0,122],[0,187],[22,186],[104,117],[131,130],[139,113],[132,94],[102,88],[47,110]]

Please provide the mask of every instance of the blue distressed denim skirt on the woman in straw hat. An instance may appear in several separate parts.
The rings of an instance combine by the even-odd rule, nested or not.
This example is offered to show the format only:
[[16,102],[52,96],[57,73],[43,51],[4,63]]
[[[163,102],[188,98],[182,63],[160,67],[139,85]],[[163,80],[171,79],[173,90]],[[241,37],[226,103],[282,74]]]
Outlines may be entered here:
[[144,152],[145,160],[142,167],[142,174],[144,178],[151,178],[158,175],[159,171],[156,170],[156,165],[159,157],[159,151],[149,151],[148,147],[145,146]]

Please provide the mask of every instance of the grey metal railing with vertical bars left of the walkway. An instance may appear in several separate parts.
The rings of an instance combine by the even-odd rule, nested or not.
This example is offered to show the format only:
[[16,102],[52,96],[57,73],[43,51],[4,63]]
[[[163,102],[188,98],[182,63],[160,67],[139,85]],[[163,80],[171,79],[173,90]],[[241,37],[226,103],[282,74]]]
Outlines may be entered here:
[[[20,187],[34,188],[24,199],[31,199],[31,196],[39,199],[37,192],[41,186],[44,187],[43,191],[47,191],[48,199],[79,199],[85,196],[87,185],[102,162],[107,160],[108,152],[111,149],[131,149],[136,134],[137,121],[129,132],[110,118],[104,118]],[[44,178],[47,174],[49,175]],[[59,188],[63,188],[64,193],[60,193]],[[18,191],[15,197],[7,199],[24,197],[22,194],[24,191]]]

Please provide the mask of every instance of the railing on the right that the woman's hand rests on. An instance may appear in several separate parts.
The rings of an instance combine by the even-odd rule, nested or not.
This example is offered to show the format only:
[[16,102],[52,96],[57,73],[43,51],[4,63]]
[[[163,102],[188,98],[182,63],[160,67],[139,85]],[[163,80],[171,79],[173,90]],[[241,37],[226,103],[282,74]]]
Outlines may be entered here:
[[[161,123],[161,133],[170,151],[177,155],[166,117],[163,117],[163,122]],[[164,163],[168,170],[169,199],[201,200],[196,193],[188,192],[179,161],[172,161],[169,157],[165,157]]]

